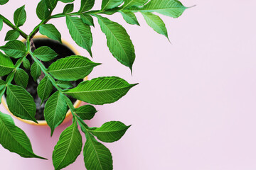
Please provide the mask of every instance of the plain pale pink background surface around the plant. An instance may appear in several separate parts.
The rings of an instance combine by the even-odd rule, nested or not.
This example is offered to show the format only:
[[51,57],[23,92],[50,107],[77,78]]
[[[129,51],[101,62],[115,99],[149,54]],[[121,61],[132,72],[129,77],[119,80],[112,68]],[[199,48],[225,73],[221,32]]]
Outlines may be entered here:
[[[28,33],[39,22],[38,1],[10,1],[0,6],[1,14],[12,21],[15,9],[26,4],[27,22],[21,28]],[[93,61],[103,64],[90,79],[114,75],[139,85],[117,103],[97,106],[99,112],[88,124],[100,126],[110,120],[132,124],[119,142],[106,144],[117,170],[256,169],[256,2],[182,2],[197,6],[178,19],[162,16],[172,44],[146,26],[139,13],[141,27],[124,23],[119,13],[111,16],[127,28],[134,42],[133,76],[112,57],[95,20]],[[59,4],[56,11],[62,12]],[[97,1],[95,8],[99,6]],[[63,39],[78,47],[68,35],[64,18],[51,23]],[[1,31],[1,45],[7,30],[4,26]],[[88,57],[85,50],[78,50]],[[6,113],[2,106],[1,111]],[[1,169],[53,169],[53,147],[67,125],[50,138],[50,128],[15,122],[31,139],[34,152],[49,160],[24,159],[0,147]],[[85,169],[82,155],[65,169]]]

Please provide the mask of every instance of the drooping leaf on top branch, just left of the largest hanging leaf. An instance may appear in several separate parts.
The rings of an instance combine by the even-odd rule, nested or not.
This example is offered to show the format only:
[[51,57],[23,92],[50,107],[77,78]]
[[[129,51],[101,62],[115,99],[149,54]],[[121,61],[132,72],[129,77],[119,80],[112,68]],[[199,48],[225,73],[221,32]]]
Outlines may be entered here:
[[66,16],[66,23],[71,37],[80,47],[85,48],[92,56],[92,33],[90,26],[87,26],[78,17]]

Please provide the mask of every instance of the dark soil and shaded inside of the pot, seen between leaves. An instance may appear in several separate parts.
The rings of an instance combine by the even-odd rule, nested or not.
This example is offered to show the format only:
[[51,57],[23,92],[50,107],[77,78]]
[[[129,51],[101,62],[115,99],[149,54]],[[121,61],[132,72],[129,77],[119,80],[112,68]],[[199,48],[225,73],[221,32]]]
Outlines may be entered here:
[[[34,42],[36,48],[41,47],[41,46],[48,46],[58,54],[58,56],[55,57],[54,60],[52,60],[50,62],[43,62],[43,64],[45,65],[46,68],[48,68],[50,66],[50,64],[52,64],[53,62],[55,62],[56,60],[58,60],[60,58],[67,57],[67,56],[70,56],[70,55],[75,55],[75,53],[72,50],[70,50],[69,47],[67,47],[63,44],[60,44],[60,42],[55,41],[55,40],[50,40],[48,38],[34,38],[33,42]],[[31,62],[31,65],[32,65],[33,60],[31,58],[31,56],[28,55],[27,59],[29,60],[29,62]],[[17,61],[13,58],[11,58],[11,60],[13,60],[14,63],[16,63],[16,61]],[[21,69],[24,69],[28,73],[28,76],[29,76],[28,86],[27,86],[26,90],[31,94],[31,96],[33,96],[34,101],[36,103],[36,116],[35,116],[36,120],[44,120],[43,110],[44,110],[44,106],[46,104],[46,101],[44,101],[43,104],[40,105],[41,104],[41,98],[39,98],[38,94],[37,94],[37,86],[38,86],[38,83],[40,82],[40,79],[43,79],[43,74],[35,82],[33,80],[33,77],[31,77],[30,70],[25,69],[22,65],[21,65]],[[2,77],[2,79],[5,80],[6,77]],[[71,83],[74,86],[77,86],[81,81],[82,81],[82,79],[80,79],[78,81],[72,81]],[[15,82],[13,81],[12,84],[15,84]],[[56,91],[56,89],[53,89],[52,94],[55,91]],[[76,101],[75,98],[70,98],[70,99],[73,103],[75,103],[75,101]]]

